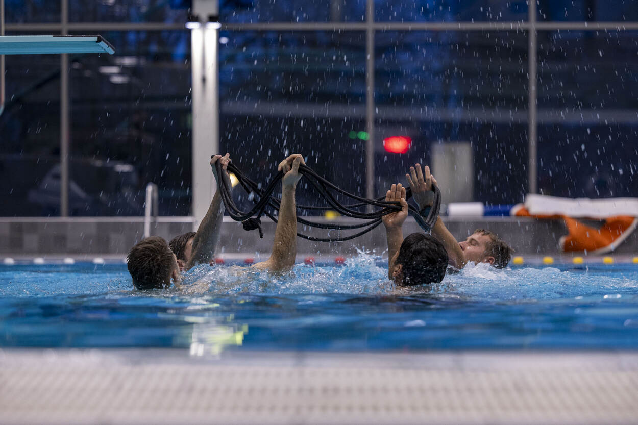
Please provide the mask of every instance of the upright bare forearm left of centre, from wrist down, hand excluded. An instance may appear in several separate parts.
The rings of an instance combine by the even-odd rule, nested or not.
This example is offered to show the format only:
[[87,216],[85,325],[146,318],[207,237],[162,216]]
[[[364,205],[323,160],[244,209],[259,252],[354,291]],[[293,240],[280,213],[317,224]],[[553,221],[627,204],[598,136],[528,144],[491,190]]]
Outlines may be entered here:
[[274,272],[288,271],[295,264],[297,254],[297,213],[295,186],[284,186],[281,193],[279,217],[272,242],[272,255],[267,261]]

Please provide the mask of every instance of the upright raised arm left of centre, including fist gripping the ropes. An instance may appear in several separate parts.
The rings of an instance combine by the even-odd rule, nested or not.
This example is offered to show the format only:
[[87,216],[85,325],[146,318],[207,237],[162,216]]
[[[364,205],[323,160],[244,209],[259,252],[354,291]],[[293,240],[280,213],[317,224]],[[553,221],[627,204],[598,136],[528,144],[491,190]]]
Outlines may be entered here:
[[271,272],[286,272],[295,264],[297,255],[297,212],[295,209],[295,188],[301,179],[299,165],[306,164],[300,154],[292,154],[279,163],[278,171],[284,174],[281,179],[281,205],[272,242],[271,257],[253,265],[257,269]]

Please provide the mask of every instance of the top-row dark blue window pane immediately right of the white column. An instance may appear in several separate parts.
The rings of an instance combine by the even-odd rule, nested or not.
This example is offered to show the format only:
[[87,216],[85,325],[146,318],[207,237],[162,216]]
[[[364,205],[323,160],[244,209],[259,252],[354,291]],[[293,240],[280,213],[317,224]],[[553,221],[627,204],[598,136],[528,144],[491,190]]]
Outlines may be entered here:
[[222,1],[221,22],[362,22],[366,0]]

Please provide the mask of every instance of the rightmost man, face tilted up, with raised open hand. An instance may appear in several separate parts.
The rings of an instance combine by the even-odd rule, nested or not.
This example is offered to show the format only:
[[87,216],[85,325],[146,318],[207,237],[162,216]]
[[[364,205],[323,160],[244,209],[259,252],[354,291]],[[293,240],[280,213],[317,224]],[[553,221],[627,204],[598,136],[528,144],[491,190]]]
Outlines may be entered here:
[[[434,175],[430,174],[430,167],[425,167],[425,174],[419,164],[410,167],[410,174],[406,174],[406,179],[412,188],[414,200],[419,204],[419,211],[432,205],[432,197],[429,192],[432,185],[436,184]],[[450,265],[456,269],[463,269],[468,262],[489,263],[497,269],[506,267],[512,257],[512,247],[503,241],[498,235],[477,228],[464,241],[457,242],[456,238],[447,230],[441,218],[436,219],[432,228],[432,235],[436,237],[443,246],[450,258]]]

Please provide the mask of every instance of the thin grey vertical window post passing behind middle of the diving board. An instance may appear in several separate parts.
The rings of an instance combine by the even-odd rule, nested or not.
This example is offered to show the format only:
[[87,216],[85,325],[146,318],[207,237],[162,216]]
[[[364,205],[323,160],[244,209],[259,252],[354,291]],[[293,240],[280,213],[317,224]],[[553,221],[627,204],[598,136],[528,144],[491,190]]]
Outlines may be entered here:
[[[68,35],[68,0],[62,0],[62,35]],[[70,155],[70,94],[69,55],[60,59],[60,216],[69,215],[69,155]]]

